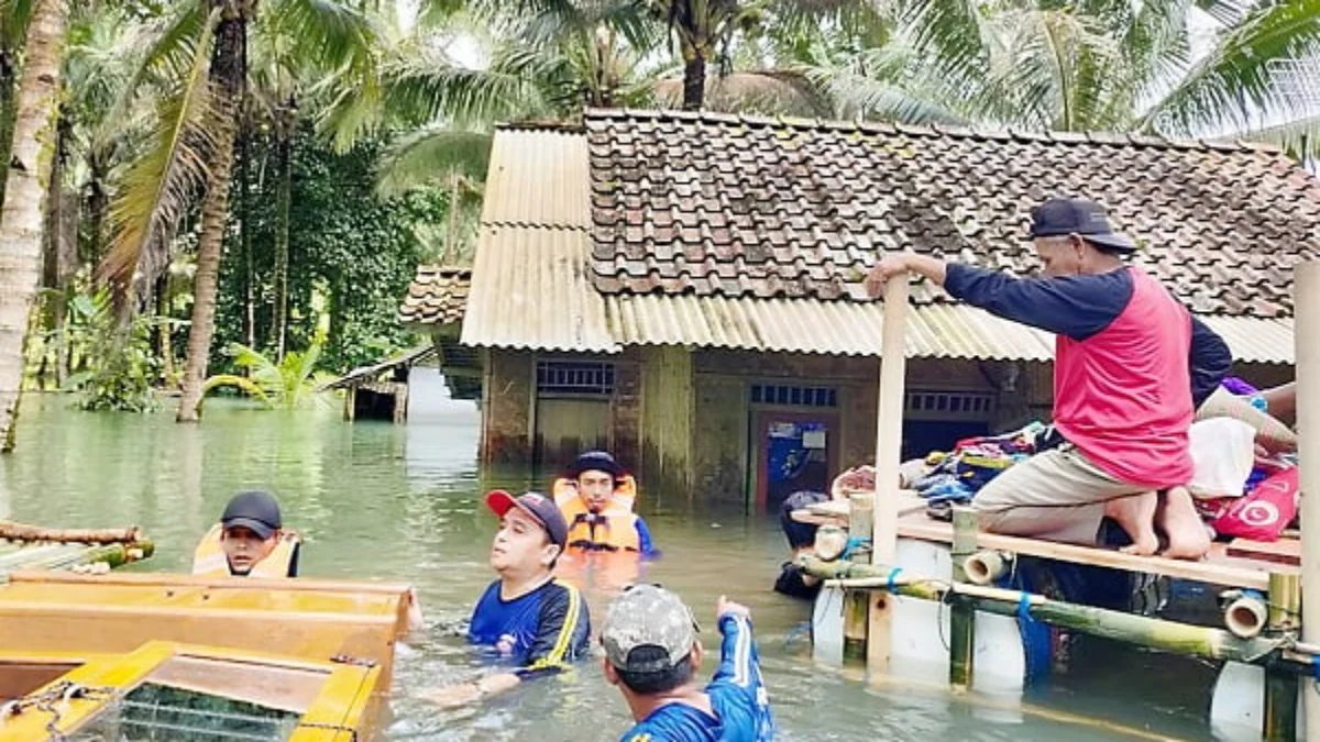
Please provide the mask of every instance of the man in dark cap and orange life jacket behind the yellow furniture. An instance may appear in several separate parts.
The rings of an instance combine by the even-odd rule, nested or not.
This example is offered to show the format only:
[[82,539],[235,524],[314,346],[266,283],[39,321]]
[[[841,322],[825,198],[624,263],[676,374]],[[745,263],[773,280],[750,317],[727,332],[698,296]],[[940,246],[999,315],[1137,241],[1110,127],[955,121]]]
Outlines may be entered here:
[[298,535],[284,529],[280,503],[269,492],[234,495],[193,553],[193,574],[211,577],[297,577]]

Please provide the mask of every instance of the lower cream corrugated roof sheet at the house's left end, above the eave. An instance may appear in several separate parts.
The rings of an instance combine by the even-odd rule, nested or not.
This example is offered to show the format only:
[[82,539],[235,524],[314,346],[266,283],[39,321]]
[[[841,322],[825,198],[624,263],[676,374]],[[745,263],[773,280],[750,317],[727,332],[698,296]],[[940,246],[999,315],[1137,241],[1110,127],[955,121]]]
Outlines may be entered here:
[[586,230],[484,226],[459,342],[618,353],[605,298],[586,279]]

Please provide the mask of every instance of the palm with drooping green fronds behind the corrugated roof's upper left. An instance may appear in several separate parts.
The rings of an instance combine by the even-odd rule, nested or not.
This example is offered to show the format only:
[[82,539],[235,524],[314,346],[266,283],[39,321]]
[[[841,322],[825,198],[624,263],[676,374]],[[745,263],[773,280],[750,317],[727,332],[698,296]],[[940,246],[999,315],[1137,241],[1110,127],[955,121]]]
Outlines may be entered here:
[[[648,67],[628,44],[624,32],[636,29],[616,22],[623,17],[611,15],[616,8],[585,13],[562,3],[524,11],[510,3],[433,13],[387,53],[374,84],[378,98],[346,96],[331,116],[337,127],[404,132],[381,156],[378,193],[392,197],[426,185],[447,191],[442,260],[469,256],[496,121],[564,119],[583,106],[655,99],[661,67]],[[471,66],[450,51],[458,33],[477,42],[482,63]]]

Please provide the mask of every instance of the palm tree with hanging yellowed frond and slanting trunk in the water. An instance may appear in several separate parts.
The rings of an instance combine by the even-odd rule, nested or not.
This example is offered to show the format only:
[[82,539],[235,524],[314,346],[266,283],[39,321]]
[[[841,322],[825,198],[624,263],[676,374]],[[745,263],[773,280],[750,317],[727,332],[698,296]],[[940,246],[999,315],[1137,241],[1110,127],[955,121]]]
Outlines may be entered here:
[[[260,9],[260,15],[257,15]],[[215,293],[228,215],[238,112],[248,73],[248,29],[280,37],[322,70],[372,63],[372,24],[334,0],[190,0],[156,24],[143,81],[166,90],[153,147],[125,174],[114,207],[115,236],[100,273],[127,287],[154,280],[174,231],[201,203],[193,317],[177,419],[193,422],[210,356]]]

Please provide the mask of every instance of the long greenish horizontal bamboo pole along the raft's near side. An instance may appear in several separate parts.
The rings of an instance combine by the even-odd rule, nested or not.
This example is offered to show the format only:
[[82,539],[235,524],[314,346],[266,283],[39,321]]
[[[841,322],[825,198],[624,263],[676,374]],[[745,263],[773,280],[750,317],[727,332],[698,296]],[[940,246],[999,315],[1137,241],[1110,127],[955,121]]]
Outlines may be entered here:
[[809,556],[801,557],[799,564],[808,574],[838,580],[843,588],[887,590],[892,584],[892,591],[899,595],[927,601],[969,601],[977,610],[1008,617],[1018,617],[1026,611],[1032,618],[1052,626],[1164,652],[1278,667],[1298,675],[1309,676],[1313,672],[1309,661],[1282,655],[1286,646],[1283,640],[1259,636],[1238,639],[1224,628],[1064,603],[1018,590],[907,577],[902,572],[895,576],[887,565],[880,564],[824,562]]

